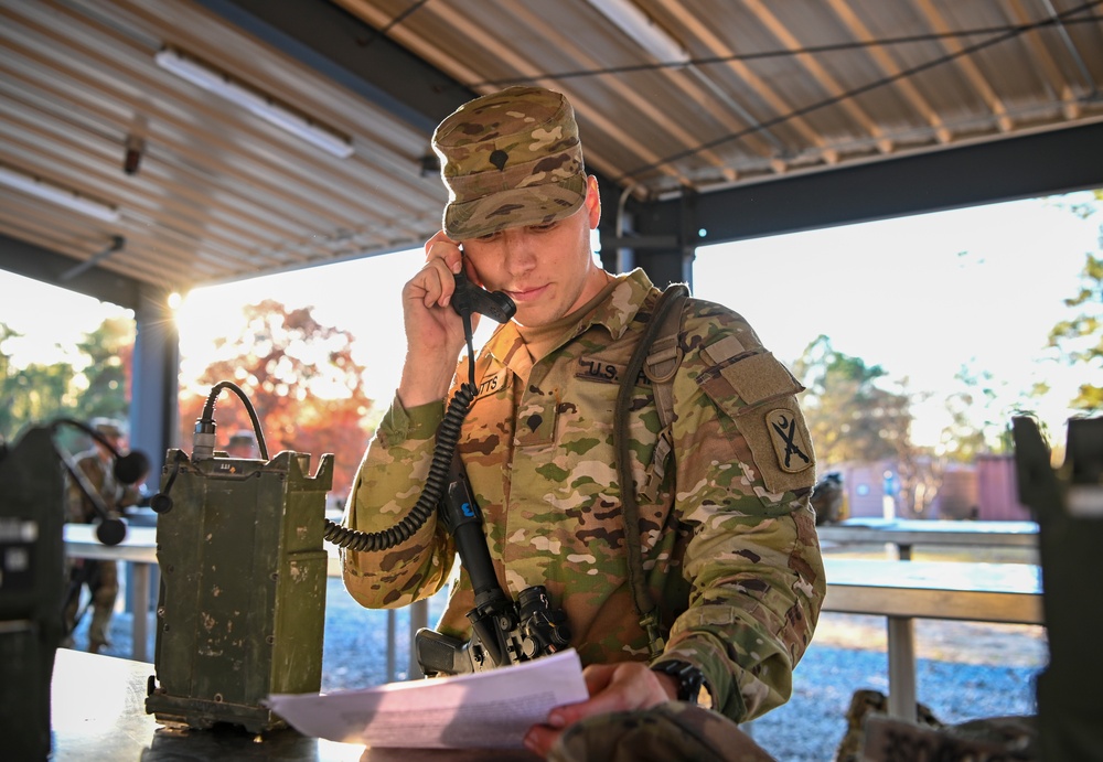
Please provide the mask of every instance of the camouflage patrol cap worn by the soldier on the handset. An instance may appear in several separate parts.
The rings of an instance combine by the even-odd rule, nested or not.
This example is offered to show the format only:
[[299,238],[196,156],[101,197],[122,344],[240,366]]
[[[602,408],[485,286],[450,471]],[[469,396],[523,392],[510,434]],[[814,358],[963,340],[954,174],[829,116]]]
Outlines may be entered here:
[[561,94],[507,87],[460,106],[432,136],[456,240],[570,216],[586,200],[575,111]]

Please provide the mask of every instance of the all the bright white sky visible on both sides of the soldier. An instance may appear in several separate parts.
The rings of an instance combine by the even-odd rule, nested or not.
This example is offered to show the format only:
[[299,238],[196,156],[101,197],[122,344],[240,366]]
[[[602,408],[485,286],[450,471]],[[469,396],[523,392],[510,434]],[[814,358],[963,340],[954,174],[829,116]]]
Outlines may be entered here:
[[[1069,314],[1062,300],[1077,290],[1085,253],[1099,253],[1103,224],[1103,208],[1083,221],[1057,202],[1089,200],[1078,193],[702,247],[694,294],[741,313],[785,363],[824,334],[887,379],[930,393],[914,410],[917,441],[933,441],[945,425],[944,399],[963,364],[1009,390],[1048,380],[1052,409],[1038,412],[1060,427],[1088,379],[1082,368],[1037,358]],[[182,372],[205,366],[205,348],[234,332],[242,305],[275,299],[312,307],[320,323],[351,333],[367,394],[385,405],[405,353],[399,293],[421,262],[416,249],[197,289],[178,312]],[[129,314],[2,271],[0,293],[0,322],[26,334],[6,345],[17,365],[73,359],[66,345]]]

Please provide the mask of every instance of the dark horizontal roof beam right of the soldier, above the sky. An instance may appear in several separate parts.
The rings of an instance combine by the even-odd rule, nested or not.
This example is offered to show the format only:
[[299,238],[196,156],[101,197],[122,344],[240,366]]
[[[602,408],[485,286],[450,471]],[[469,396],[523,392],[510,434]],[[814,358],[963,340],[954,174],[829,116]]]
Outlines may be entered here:
[[[694,221],[679,200],[629,210],[635,233],[689,229],[696,247],[1093,187],[1103,187],[1103,122],[705,193]],[[681,265],[681,249],[670,256]]]

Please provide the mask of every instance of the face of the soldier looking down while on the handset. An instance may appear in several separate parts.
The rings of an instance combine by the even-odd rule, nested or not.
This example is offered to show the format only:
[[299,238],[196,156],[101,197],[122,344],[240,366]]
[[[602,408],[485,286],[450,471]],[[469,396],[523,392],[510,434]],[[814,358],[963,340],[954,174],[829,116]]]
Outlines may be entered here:
[[586,202],[566,219],[470,238],[463,253],[484,288],[505,291],[516,302],[518,323],[547,325],[588,302],[607,282],[590,253],[590,230],[600,218],[591,176]]

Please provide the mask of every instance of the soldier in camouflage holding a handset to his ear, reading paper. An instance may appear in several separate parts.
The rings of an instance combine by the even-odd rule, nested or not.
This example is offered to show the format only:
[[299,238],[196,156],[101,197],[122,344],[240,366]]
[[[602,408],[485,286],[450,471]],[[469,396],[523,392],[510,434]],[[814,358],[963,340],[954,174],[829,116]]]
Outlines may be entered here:
[[[580,720],[692,700],[702,683],[736,722],[783,704],[825,592],[808,505],[815,462],[795,397],[803,387],[740,315],[688,300],[663,432],[673,452],[654,459],[651,486],[661,432],[646,378],[624,414],[639,504],[636,526],[625,526],[614,401],[661,291],[641,270],[614,277],[595,262],[600,200],[570,104],[511,87],[462,106],[432,143],[449,190],[443,229],[403,289],[409,348],[345,524],[385,530],[418,497],[445,400],[469,377],[465,362],[457,372],[464,332],[448,309],[463,270],[517,311],[478,354],[459,452],[499,583],[514,598],[547,588],[590,691],[534,727],[528,748],[547,754]],[[634,604],[633,539],[635,587],[656,604],[662,640]],[[453,557],[433,515],[393,549],[344,551],[345,586],[365,607],[403,607],[437,592]],[[469,638],[473,607],[461,570],[438,630]]]

